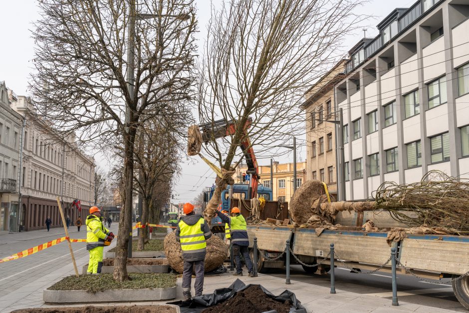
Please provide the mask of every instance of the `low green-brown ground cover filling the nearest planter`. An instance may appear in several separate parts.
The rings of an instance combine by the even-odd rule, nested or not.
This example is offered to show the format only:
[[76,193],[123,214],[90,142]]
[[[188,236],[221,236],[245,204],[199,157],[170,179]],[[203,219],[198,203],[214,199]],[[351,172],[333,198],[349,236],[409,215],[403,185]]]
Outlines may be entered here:
[[176,286],[176,275],[129,273],[130,281],[116,282],[112,274],[67,276],[48,290],[85,290],[91,293],[109,289],[155,289]]

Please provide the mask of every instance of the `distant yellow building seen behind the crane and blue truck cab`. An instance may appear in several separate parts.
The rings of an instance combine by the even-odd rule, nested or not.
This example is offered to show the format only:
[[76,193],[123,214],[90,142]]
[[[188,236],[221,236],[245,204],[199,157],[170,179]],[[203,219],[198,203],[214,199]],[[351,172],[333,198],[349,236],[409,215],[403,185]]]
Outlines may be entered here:
[[[270,166],[259,166],[259,176],[263,186],[272,188],[273,201],[282,200],[290,202],[293,195],[293,163],[279,164],[273,162],[273,186],[270,182]],[[236,167],[234,182],[241,183],[243,173],[246,173],[246,165]],[[306,162],[296,163],[297,188],[306,180]],[[247,184],[247,182],[245,182]]]

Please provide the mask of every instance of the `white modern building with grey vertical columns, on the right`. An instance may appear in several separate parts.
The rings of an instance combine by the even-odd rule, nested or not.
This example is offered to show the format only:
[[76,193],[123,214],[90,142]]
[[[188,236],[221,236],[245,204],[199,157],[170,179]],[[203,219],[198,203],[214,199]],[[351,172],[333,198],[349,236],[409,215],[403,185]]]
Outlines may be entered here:
[[430,170],[469,178],[469,0],[419,0],[378,29],[352,49],[335,86],[346,199]]

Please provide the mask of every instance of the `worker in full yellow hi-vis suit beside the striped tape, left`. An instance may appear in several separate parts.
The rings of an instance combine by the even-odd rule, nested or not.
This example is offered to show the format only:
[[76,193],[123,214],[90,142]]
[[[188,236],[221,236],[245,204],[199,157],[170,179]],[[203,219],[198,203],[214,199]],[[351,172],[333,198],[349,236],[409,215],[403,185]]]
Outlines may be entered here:
[[90,254],[87,274],[99,274],[103,267],[103,250],[105,242],[114,239],[114,234],[104,227],[101,211],[97,207],[90,208],[90,215],[86,218],[86,250]]

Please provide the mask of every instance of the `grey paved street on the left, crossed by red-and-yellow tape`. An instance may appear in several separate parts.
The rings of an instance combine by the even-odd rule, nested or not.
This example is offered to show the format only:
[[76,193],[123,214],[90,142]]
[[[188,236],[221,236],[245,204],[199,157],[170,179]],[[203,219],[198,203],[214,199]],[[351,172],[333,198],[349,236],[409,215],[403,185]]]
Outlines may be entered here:
[[[117,234],[118,224],[112,224],[110,230]],[[136,231],[134,231],[136,233]],[[86,238],[86,227],[80,232],[75,226],[69,228],[70,238]],[[52,228],[0,236],[0,258],[32,248],[48,241],[64,237],[63,228]],[[114,241],[110,247],[114,247]],[[86,243],[72,243],[78,272],[88,263]],[[37,307],[42,305],[42,290],[62,277],[73,275],[73,264],[68,244],[60,243],[33,255],[0,264],[0,312]]]

